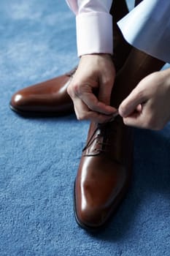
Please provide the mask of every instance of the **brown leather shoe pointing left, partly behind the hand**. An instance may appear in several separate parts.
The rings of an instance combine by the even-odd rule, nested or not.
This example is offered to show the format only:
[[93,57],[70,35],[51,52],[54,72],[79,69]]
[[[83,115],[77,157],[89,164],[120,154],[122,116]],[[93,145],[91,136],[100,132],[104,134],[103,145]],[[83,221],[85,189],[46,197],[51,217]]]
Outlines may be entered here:
[[74,112],[66,89],[75,70],[16,92],[10,108],[23,116],[58,116]]

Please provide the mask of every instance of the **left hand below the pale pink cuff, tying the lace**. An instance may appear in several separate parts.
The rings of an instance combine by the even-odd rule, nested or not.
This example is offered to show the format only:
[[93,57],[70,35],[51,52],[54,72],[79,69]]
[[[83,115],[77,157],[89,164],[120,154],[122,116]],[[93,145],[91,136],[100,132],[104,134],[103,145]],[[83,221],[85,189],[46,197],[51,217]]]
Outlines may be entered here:
[[103,123],[109,121],[115,108],[110,104],[115,67],[109,54],[82,56],[68,94],[74,103],[77,119]]

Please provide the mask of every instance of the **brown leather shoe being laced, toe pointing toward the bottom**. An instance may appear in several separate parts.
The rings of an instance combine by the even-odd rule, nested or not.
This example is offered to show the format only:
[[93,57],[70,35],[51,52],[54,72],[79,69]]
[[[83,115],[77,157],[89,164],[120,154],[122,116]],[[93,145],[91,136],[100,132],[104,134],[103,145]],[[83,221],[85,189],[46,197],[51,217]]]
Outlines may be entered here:
[[90,124],[74,184],[74,214],[87,230],[98,230],[116,211],[131,181],[133,135],[122,118]]

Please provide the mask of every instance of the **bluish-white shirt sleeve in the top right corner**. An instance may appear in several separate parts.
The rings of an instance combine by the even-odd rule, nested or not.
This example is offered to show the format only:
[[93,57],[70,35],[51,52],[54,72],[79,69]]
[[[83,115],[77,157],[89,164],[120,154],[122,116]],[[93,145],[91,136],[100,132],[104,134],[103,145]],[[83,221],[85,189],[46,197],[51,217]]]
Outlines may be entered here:
[[143,0],[118,26],[131,45],[170,63],[169,0]]

